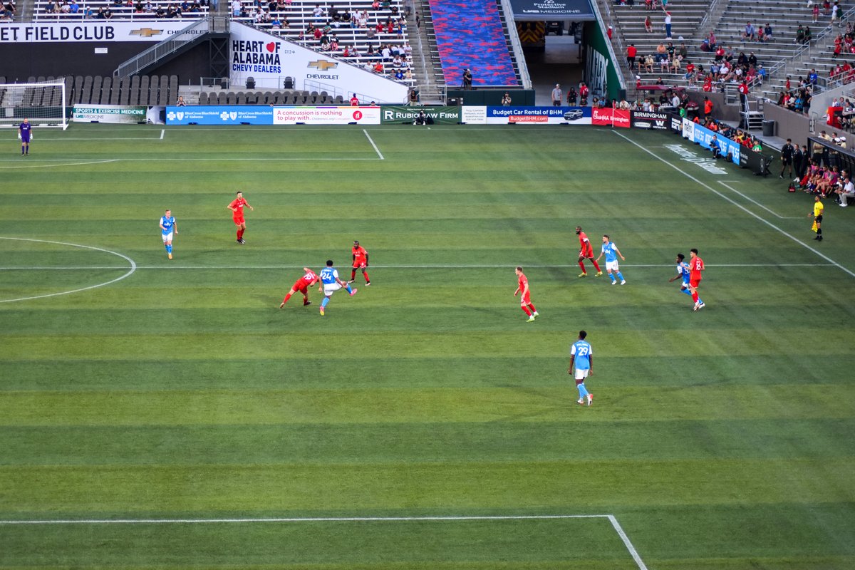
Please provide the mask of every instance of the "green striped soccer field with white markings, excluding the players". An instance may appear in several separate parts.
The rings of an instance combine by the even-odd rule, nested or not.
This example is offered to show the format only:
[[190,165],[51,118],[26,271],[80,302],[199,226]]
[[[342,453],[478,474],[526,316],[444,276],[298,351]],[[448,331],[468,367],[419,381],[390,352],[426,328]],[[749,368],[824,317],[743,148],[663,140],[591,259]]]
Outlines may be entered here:
[[[3,570],[855,567],[855,212],[813,241],[775,167],[572,126],[8,134]],[[577,225],[627,285],[577,277]],[[370,287],[278,308],[354,239]]]

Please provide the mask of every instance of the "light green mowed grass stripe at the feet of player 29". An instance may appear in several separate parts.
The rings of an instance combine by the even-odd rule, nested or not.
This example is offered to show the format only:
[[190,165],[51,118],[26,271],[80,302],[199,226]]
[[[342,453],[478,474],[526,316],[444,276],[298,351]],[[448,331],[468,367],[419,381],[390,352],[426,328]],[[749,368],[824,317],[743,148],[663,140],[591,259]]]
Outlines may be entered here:
[[[599,386],[591,381],[598,403],[591,412],[576,408],[576,395],[569,383],[533,388],[522,379],[516,385],[492,389],[5,391],[0,403],[0,425],[417,424],[524,422],[533,418],[574,422],[845,419],[855,404],[852,391],[840,385],[689,385],[658,391],[651,385],[612,387],[604,382],[602,391]],[[792,402],[782,404],[787,398]]]

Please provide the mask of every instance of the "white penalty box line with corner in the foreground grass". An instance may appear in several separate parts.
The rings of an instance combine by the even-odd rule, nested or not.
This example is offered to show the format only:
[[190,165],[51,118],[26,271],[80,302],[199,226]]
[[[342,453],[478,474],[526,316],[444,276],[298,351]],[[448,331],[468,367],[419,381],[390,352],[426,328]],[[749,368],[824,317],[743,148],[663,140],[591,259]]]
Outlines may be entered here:
[[55,520],[0,520],[3,525],[211,525],[211,524],[257,524],[257,523],[303,523],[303,522],[459,522],[467,520],[558,520],[558,519],[606,519],[621,538],[629,555],[639,570],[647,570],[638,550],[630,542],[614,514],[528,514],[495,516],[355,516],[355,517],[269,517],[241,519],[55,519]]

